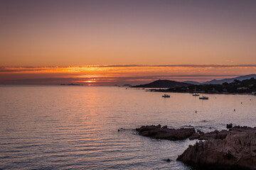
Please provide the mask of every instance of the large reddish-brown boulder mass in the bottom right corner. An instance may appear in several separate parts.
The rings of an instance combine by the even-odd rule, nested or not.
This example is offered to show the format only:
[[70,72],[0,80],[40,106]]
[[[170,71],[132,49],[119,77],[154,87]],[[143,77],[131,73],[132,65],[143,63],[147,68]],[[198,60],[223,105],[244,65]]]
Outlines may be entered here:
[[189,145],[177,160],[196,169],[256,169],[256,128],[235,126],[206,134],[209,140]]

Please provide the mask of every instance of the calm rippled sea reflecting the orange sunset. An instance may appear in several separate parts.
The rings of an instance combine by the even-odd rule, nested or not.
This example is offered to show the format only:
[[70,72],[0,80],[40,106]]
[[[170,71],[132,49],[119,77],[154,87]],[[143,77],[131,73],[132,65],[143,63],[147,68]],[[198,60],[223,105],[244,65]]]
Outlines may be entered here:
[[161,95],[104,86],[0,86],[0,169],[189,169],[176,157],[196,140],[155,140],[134,129],[255,126],[256,96]]

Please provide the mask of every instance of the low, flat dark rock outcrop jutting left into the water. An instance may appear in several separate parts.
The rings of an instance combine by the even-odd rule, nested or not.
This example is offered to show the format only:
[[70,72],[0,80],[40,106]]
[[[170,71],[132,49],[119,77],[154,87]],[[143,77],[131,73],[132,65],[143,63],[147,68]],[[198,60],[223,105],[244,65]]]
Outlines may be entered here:
[[161,125],[142,126],[136,129],[139,135],[163,140],[185,140],[196,132],[194,128],[169,129]]

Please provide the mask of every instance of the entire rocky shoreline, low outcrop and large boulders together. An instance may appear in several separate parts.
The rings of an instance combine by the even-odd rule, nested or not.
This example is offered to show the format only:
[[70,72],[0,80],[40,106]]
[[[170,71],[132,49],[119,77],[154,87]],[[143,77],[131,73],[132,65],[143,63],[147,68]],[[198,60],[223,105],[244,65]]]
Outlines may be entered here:
[[136,130],[139,135],[164,140],[200,140],[189,145],[177,161],[196,169],[256,169],[256,127],[232,128],[201,132],[194,128],[169,129],[149,125]]

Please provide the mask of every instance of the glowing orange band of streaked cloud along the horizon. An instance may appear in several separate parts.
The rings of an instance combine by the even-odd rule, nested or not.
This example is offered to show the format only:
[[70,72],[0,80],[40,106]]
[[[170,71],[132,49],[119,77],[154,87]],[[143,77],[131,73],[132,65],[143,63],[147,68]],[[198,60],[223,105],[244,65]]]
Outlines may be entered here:
[[114,85],[156,79],[208,81],[255,72],[256,65],[102,65],[86,67],[1,67],[1,84]]

